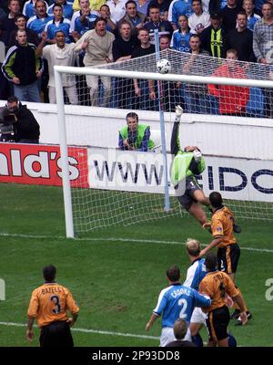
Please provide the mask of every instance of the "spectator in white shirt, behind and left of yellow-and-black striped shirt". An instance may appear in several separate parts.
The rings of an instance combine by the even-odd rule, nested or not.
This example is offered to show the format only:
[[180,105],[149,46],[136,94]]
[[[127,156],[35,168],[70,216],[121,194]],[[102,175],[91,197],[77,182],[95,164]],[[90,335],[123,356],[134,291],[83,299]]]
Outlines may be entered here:
[[200,35],[207,26],[210,26],[210,16],[203,12],[201,0],[192,1],[193,14],[188,17],[188,26],[191,34]]

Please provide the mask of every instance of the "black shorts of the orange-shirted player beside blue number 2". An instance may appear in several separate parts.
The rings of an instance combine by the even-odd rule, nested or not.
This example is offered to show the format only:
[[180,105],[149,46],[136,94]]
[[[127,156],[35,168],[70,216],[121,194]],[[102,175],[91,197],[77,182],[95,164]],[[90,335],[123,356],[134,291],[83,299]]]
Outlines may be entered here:
[[227,326],[229,318],[230,315],[227,306],[208,312],[206,323],[210,341],[220,341],[221,339],[227,339]]

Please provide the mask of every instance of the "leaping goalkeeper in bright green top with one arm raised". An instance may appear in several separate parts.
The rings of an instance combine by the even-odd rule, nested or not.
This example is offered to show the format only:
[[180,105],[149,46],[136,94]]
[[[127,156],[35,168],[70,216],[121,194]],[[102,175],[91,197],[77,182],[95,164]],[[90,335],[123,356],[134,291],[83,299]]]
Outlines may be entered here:
[[206,226],[207,215],[199,203],[210,205],[210,202],[198,185],[196,178],[205,170],[205,160],[197,146],[187,146],[184,151],[181,151],[179,124],[182,114],[183,109],[177,106],[176,120],[171,137],[171,153],[175,156],[171,167],[171,181],[175,186],[179,203],[200,224]]

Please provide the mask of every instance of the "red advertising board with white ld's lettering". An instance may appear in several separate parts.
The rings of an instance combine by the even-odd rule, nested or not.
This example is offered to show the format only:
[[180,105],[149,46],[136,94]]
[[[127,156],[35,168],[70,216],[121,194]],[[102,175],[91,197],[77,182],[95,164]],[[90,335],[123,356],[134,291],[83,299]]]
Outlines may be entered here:
[[[69,147],[71,186],[87,188],[88,168],[85,147]],[[62,185],[60,147],[0,143],[0,183]]]

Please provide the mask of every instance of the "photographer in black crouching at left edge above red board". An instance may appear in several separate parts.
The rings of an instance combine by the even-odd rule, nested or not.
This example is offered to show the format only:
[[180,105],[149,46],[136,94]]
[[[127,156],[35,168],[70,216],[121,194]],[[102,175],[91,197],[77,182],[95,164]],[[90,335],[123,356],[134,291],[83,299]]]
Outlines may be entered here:
[[0,108],[0,141],[39,143],[40,127],[33,113],[16,97]]

